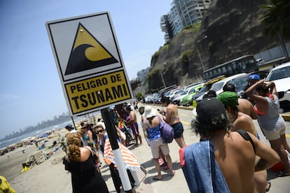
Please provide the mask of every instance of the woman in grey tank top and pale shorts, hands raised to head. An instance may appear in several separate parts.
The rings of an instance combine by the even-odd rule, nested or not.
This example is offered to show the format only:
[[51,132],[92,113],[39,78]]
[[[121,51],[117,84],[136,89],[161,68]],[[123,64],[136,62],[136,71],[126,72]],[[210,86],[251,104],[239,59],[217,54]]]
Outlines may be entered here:
[[[253,93],[254,90],[256,94]],[[258,123],[283,163],[284,171],[279,171],[277,176],[289,176],[290,165],[285,150],[289,152],[290,148],[285,136],[286,124],[283,117],[279,115],[280,105],[275,83],[264,83],[264,80],[259,80],[247,89],[246,94],[256,101],[254,109],[258,114]]]

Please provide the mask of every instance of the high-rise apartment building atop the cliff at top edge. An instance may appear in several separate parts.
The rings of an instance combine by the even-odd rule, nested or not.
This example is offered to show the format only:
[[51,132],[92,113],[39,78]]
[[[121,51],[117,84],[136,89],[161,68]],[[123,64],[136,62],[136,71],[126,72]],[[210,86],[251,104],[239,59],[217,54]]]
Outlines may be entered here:
[[173,0],[172,8],[160,19],[160,26],[165,32],[165,41],[170,41],[184,27],[202,21],[211,0]]

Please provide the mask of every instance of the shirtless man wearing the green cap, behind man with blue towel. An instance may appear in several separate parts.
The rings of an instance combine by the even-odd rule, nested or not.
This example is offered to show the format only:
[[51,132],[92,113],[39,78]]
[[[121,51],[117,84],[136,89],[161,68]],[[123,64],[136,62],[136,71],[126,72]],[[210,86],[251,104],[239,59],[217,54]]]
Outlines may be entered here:
[[[238,96],[236,92],[222,92],[217,96],[217,99],[223,103],[223,106],[225,106],[226,111],[230,116],[230,120],[233,123],[233,131],[244,129],[259,139],[256,127],[254,126],[251,117],[240,112],[240,109],[238,110],[239,104],[237,103]],[[256,160],[258,159],[259,157],[256,157]],[[255,172],[254,179],[258,192],[268,192],[270,190],[270,181],[267,181],[267,171],[263,170]]]

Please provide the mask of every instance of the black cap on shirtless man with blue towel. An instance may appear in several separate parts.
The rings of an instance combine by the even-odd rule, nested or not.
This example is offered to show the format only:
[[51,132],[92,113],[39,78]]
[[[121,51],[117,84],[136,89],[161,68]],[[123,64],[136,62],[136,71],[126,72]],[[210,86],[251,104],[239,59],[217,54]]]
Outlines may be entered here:
[[221,103],[218,99],[208,98],[202,99],[202,101],[198,103],[196,113],[198,114],[197,120],[206,124],[216,115],[223,114],[226,116],[226,109],[223,106],[223,103]]

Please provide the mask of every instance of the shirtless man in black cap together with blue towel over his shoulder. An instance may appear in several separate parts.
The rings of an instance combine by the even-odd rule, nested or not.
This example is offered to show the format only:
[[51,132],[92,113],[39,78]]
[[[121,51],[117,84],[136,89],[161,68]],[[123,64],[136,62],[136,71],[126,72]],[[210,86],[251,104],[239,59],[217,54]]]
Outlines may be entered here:
[[[196,113],[195,132],[204,141],[179,151],[191,192],[257,192],[254,172],[279,162],[277,153],[252,134],[230,131],[226,109],[216,98],[200,101]],[[261,159],[255,163],[256,155]]]

